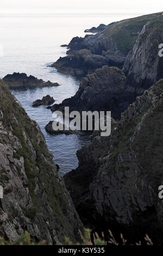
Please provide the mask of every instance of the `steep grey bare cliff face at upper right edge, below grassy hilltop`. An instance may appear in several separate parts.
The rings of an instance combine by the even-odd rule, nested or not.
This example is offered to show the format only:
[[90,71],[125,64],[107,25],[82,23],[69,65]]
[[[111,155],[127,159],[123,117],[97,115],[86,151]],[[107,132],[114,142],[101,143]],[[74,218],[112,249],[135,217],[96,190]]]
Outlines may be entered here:
[[123,71],[127,76],[128,90],[142,94],[145,89],[163,78],[163,58],[159,45],[163,42],[163,21],[149,22],[142,29],[133,50],[128,54]]

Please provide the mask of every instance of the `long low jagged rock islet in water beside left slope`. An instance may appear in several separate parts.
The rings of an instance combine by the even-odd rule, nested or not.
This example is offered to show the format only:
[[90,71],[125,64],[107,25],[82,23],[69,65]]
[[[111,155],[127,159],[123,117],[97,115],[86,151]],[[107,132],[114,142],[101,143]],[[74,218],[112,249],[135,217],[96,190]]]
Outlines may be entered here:
[[27,76],[25,73],[16,73],[12,75],[7,75],[3,78],[4,83],[8,87],[46,87],[46,86],[59,86],[58,83],[52,83],[50,81],[43,81],[42,79],[37,79],[34,76]]

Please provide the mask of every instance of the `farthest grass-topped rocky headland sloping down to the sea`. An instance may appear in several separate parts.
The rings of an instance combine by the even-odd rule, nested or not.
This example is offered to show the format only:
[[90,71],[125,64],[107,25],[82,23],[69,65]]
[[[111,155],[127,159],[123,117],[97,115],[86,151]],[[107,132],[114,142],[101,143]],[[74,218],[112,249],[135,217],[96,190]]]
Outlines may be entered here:
[[95,35],[85,35],[84,38],[76,36],[68,44],[68,56],[60,57],[52,67],[64,74],[75,76],[92,74],[103,65],[122,69],[127,54],[133,48],[143,26],[160,17],[162,19],[161,14],[113,22]]

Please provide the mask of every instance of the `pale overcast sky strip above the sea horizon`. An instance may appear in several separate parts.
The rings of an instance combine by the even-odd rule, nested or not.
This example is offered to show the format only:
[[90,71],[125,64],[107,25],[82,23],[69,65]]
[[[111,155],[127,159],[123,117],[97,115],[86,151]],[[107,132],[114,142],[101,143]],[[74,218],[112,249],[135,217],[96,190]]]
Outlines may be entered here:
[[63,10],[67,13],[72,13],[73,11],[78,11],[79,13],[85,11],[97,11],[100,13],[127,11],[148,14],[163,11],[163,4],[162,0],[0,0],[1,13],[60,13]]

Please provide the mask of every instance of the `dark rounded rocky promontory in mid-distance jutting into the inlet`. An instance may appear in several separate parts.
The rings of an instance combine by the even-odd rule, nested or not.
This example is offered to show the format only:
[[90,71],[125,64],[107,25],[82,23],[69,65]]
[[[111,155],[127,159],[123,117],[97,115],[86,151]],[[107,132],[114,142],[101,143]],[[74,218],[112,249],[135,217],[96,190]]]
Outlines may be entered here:
[[59,105],[53,105],[51,110],[62,111],[65,106],[80,112],[107,110],[112,112],[113,118],[119,118],[133,101],[133,95],[127,92],[125,84],[126,77],[120,69],[103,66],[83,78],[76,95]]

